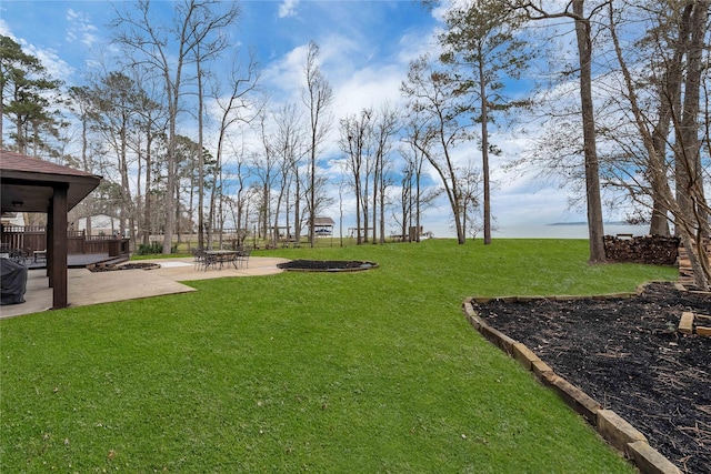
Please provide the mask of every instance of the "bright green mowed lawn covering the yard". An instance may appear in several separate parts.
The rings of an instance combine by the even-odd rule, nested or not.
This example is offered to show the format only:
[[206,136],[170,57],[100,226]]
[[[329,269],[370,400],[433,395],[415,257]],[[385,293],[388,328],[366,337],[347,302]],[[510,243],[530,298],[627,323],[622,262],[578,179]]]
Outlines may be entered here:
[[461,312],[468,295],[675,279],[590,266],[587,252],[573,240],[279,250],[380,268],[0,321],[0,472],[632,473]]

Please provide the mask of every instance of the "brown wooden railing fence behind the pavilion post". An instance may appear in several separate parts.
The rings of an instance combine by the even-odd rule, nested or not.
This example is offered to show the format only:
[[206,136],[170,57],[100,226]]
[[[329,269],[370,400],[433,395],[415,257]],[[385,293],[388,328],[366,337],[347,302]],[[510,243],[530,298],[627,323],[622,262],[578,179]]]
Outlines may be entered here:
[[[47,233],[41,225],[2,225],[0,232],[2,249],[23,249],[30,254],[36,250],[47,250]],[[129,239],[113,235],[87,235],[84,231],[67,232],[67,253],[82,255],[106,253],[109,256],[128,255]]]

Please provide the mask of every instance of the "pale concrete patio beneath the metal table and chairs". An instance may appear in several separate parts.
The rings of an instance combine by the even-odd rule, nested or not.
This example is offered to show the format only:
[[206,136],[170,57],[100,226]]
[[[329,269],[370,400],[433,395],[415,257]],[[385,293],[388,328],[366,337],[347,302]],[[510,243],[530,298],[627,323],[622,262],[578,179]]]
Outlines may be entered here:
[[[258,276],[280,273],[277,264],[286,259],[252,256],[248,266],[232,265],[208,271],[196,269],[192,258],[141,260],[157,263],[159,269],[121,270],[92,273],[87,269],[68,270],[69,307],[111,303],[123,300],[187,293],[194,289],[181,282],[228,276]],[[134,262],[136,263],[136,262]],[[0,319],[48,311],[52,307],[52,289],[46,269],[28,272],[24,303],[0,306]]]

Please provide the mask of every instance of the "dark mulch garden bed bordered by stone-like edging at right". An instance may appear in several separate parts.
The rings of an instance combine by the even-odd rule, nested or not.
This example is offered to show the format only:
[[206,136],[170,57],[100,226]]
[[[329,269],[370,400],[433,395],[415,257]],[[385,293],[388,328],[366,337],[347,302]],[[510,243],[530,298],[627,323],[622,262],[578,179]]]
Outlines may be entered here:
[[629,299],[491,301],[477,310],[682,472],[711,473],[711,337],[677,331],[684,311],[711,315],[711,295],[652,283]]

